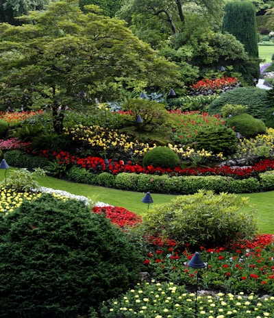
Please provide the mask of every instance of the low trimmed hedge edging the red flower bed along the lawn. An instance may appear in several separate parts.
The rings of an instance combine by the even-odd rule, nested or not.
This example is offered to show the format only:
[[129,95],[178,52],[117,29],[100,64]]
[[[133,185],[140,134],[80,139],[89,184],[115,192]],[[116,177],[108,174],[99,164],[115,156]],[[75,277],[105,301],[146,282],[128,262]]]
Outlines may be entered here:
[[[5,160],[12,167],[27,169],[43,168],[49,162],[47,158],[31,156],[20,150],[5,152]],[[95,174],[82,167],[71,167],[66,174],[69,180],[74,182],[139,192],[190,195],[200,189],[212,190],[214,193],[255,193],[274,190],[274,171],[259,173],[258,179],[251,177],[243,180],[221,175],[169,177],[125,172],[117,175],[108,172]]]

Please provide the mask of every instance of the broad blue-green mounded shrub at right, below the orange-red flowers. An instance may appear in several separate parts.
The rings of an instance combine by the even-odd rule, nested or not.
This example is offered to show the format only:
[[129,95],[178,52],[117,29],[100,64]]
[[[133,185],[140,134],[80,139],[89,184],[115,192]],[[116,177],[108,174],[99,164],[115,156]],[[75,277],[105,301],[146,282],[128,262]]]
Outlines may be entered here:
[[239,87],[220,95],[214,99],[208,108],[208,113],[222,114],[225,104],[248,106],[247,113],[251,116],[266,121],[266,112],[271,107],[267,91],[258,87]]

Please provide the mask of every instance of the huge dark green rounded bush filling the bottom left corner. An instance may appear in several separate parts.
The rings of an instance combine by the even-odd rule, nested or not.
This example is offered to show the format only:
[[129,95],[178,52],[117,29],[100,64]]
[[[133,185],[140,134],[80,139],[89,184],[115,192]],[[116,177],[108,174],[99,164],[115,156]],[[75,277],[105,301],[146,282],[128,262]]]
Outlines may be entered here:
[[0,219],[0,317],[75,318],[138,281],[134,243],[84,202],[41,195]]

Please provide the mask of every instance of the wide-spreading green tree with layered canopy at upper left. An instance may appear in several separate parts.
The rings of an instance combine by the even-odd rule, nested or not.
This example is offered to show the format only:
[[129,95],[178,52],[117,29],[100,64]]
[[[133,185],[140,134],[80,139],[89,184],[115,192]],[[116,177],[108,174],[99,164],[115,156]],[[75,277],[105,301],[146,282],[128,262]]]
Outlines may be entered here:
[[168,91],[179,83],[175,64],[158,58],[123,21],[95,11],[84,14],[77,0],[64,0],[24,16],[23,25],[0,25],[2,108],[48,105],[62,122],[58,110],[80,99],[90,105],[125,90]]

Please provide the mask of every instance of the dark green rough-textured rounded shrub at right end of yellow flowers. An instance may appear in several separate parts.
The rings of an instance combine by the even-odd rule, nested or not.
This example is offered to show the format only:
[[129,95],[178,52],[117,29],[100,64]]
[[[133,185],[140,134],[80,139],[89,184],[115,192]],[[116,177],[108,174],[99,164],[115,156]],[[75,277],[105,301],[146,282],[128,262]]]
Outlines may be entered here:
[[232,155],[237,149],[236,132],[224,125],[199,130],[195,142],[195,149],[205,149],[206,151],[212,151],[213,154],[222,152],[223,156]]

